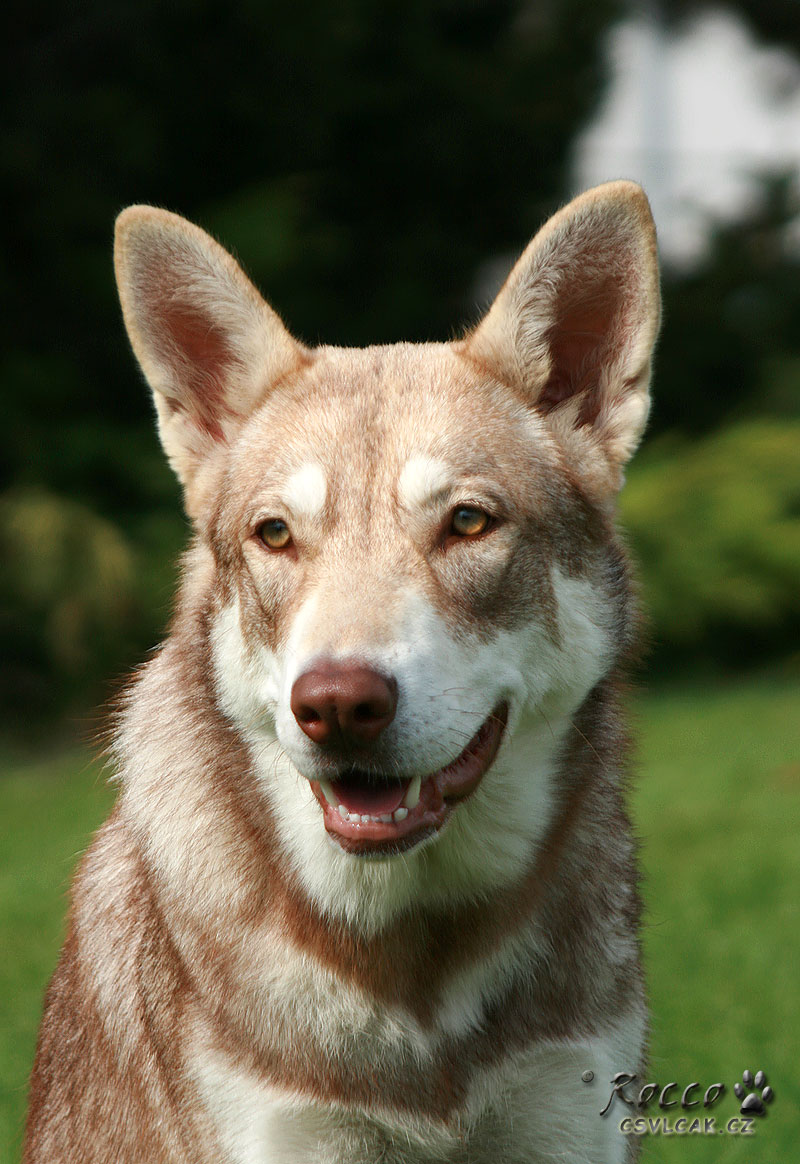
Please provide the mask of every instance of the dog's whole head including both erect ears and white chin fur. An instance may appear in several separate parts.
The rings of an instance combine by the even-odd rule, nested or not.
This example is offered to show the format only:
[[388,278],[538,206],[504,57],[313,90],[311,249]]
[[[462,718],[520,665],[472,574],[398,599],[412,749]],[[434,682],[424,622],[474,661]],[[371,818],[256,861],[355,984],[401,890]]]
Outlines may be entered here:
[[610,511],[657,328],[643,196],[561,211],[456,343],[309,352],[144,207],[118,277],[199,533],[217,698],[298,868],[319,889],[403,854],[469,881],[479,844],[509,875],[630,632]]

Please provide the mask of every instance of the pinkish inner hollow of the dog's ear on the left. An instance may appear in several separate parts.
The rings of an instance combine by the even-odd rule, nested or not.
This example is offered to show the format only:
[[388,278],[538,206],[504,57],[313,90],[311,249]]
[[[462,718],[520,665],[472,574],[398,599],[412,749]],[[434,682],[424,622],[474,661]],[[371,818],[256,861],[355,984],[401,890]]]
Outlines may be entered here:
[[231,346],[222,331],[198,308],[186,304],[158,305],[157,317],[164,328],[163,357],[175,363],[185,389],[180,399],[170,399],[170,407],[189,412],[194,424],[222,440],[221,421],[232,416],[225,388],[234,363]]

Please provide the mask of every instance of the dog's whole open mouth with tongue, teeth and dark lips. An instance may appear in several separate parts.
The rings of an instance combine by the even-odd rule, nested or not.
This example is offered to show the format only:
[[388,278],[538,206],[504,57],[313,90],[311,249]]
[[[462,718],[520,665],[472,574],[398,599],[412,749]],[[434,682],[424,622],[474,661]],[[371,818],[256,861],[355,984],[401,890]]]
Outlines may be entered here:
[[480,785],[497,755],[508,712],[508,703],[495,708],[463,752],[427,776],[380,780],[354,768],[335,780],[312,781],[328,835],[349,853],[390,856],[436,832]]

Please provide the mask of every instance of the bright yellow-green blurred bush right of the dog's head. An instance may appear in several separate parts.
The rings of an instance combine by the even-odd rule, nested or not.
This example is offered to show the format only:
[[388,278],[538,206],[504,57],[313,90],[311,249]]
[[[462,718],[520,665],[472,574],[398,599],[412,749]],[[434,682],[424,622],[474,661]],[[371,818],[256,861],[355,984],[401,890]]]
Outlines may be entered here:
[[[797,651],[800,421],[752,420],[637,457],[621,516],[640,565],[656,661]],[[794,647],[792,646],[794,641]]]

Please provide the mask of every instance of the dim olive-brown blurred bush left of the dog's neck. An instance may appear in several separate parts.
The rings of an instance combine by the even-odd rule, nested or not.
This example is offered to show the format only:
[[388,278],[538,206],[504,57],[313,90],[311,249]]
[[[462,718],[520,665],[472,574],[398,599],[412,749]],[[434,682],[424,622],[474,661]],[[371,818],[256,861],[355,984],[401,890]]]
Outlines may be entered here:
[[178,514],[121,528],[41,488],[0,495],[0,702],[10,726],[85,711],[156,641]]

